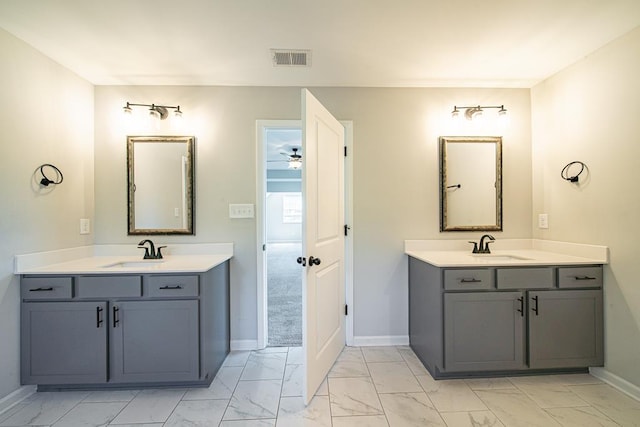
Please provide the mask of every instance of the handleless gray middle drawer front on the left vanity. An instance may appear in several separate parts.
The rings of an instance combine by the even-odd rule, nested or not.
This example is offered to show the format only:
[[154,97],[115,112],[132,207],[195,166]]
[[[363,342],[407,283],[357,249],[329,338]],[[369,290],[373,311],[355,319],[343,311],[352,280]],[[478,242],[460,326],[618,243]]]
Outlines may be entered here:
[[80,276],[78,298],[127,298],[142,296],[141,276]]

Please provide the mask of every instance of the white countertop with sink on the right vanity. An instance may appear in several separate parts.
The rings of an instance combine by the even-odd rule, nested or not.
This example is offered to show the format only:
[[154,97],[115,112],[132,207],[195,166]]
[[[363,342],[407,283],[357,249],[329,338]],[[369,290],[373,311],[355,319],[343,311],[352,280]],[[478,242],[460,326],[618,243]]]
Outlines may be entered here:
[[[435,267],[526,267],[539,265],[593,265],[607,264],[605,246],[519,240],[521,244],[503,244],[503,249],[491,254],[472,254],[470,248],[455,249],[445,242],[438,249],[436,241],[406,241],[405,253]],[[469,246],[469,245],[467,245]]]

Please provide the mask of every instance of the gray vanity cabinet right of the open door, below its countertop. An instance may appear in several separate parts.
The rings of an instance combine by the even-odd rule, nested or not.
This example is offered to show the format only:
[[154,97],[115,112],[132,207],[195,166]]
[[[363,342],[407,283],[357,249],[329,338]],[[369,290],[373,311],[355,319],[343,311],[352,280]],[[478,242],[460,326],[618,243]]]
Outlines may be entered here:
[[409,341],[435,378],[603,360],[602,266],[439,268],[409,257]]

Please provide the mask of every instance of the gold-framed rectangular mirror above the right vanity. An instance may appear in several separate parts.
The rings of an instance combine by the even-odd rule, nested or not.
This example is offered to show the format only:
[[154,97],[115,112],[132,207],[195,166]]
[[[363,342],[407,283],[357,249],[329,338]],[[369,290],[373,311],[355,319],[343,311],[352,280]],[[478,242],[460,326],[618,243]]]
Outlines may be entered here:
[[502,231],[502,137],[439,142],[440,231]]

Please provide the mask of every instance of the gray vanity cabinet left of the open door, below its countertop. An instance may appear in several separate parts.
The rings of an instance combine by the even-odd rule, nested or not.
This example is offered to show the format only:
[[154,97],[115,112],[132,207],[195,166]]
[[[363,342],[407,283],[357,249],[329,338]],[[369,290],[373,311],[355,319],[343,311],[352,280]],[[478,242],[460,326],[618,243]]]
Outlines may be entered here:
[[194,274],[21,278],[21,381],[206,386],[230,351],[229,262]]

